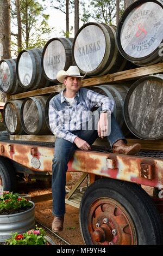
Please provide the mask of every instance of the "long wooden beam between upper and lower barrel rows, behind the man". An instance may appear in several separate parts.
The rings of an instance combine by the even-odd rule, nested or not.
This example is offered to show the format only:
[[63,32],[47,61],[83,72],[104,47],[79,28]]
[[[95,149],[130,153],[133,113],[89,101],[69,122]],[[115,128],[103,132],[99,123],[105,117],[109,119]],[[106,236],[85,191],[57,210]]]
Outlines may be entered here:
[[[124,71],[117,72],[114,74],[98,76],[97,78],[84,79],[82,81],[82,87],[138,80],[138,79],[142,78],[143,76],[158,74],[158,73],[163,73],[163,63],[157,63],[157,64],[147,66],[147,67],[124,70]],[[33,90],[33,91],[10,95],[9,98],[11,100],[12,99],[23,99],[23,98],[27,98],[27,97],[42,95],[42,94],[61,92],[64,88],[65,88],[64,85],[54,85],[54,86],[49,86],[46,88]]]

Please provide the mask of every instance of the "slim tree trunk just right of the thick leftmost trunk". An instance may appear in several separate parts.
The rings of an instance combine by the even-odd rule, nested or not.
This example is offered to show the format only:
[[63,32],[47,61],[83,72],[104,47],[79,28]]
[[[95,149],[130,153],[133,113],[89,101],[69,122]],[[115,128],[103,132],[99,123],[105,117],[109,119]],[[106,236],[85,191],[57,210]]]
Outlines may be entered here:
[[16,0],[16,12],[17,12],[17,27],[18,27],[18,36],[17,36],[17,53],[22,51],[22,21],[20,13],[20,0]]

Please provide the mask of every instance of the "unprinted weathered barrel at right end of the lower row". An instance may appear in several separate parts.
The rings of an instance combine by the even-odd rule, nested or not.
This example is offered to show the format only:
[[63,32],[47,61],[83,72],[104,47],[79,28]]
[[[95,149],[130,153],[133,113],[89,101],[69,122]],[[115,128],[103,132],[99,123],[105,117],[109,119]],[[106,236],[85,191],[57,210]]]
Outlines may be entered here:
[[124,118],[140,139],[163,139],[163,75],[149,75],[136,81],[124,100]]

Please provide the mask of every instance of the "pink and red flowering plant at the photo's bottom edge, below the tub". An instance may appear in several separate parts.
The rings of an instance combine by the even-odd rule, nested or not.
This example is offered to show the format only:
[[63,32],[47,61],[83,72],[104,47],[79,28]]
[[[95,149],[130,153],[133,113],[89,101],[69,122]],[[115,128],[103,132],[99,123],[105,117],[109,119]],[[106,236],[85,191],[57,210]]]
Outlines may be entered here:
[[46,241],[43,228],[31,229],[23,234],[13,233],[5,245],[51,245]]

